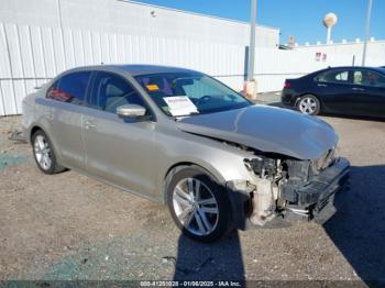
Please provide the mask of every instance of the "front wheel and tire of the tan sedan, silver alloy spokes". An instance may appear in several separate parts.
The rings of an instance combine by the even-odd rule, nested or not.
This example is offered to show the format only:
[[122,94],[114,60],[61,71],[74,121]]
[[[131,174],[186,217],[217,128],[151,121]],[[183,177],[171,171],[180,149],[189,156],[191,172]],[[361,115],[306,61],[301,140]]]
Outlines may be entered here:
[[229,232],[230,203],[226,190],[206,171],[186,167],[167,184],[167,204],[187,236],[215,242]]

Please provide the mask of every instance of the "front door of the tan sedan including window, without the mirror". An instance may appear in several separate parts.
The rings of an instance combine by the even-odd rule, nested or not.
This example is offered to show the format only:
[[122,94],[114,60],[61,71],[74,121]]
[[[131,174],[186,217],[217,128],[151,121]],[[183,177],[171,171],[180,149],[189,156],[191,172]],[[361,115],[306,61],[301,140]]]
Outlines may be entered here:
[[157,179],[155,118],[147,108],[147,119],[120,119],[117,108],[123,104],[147,108],[127,79],[98,71],[84,122],[87,170],[134,192],[153,196]]

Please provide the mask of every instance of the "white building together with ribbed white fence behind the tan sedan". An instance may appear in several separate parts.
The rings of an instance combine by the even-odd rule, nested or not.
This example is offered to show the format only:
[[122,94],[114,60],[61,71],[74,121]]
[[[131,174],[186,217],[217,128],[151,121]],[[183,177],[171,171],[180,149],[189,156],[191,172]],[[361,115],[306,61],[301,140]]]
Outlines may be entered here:
[[[151,63],[202,70],[241,89],[249,24],[119,0],[1,0],[0,115],[81,65]],[[276,48],[279,30],[256,27],[256,45]]]

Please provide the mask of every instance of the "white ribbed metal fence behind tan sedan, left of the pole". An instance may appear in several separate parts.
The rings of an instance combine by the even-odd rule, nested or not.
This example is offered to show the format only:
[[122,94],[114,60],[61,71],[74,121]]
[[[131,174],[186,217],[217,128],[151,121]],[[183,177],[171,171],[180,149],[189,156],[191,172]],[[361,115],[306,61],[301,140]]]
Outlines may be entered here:
[[[58,73],[92,64],[163,64],[210,75],[243,75],[244,45],[0,23],[0,115]],[[221,77],[220,77],[221,78]],[[239,89],[233,77],[223,77]],[[242,77],[240,77],[242,78]]]

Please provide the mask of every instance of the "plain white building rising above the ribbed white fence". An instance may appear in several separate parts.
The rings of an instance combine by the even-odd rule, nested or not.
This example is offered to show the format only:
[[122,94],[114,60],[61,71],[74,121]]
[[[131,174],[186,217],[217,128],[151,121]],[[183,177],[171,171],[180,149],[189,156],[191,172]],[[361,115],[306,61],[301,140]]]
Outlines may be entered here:
[[[154,38],[249,43],[249,23],[121,0],[2,0],[0,21]],[[279,30],[256,27],[256,45],[276,47]]]

